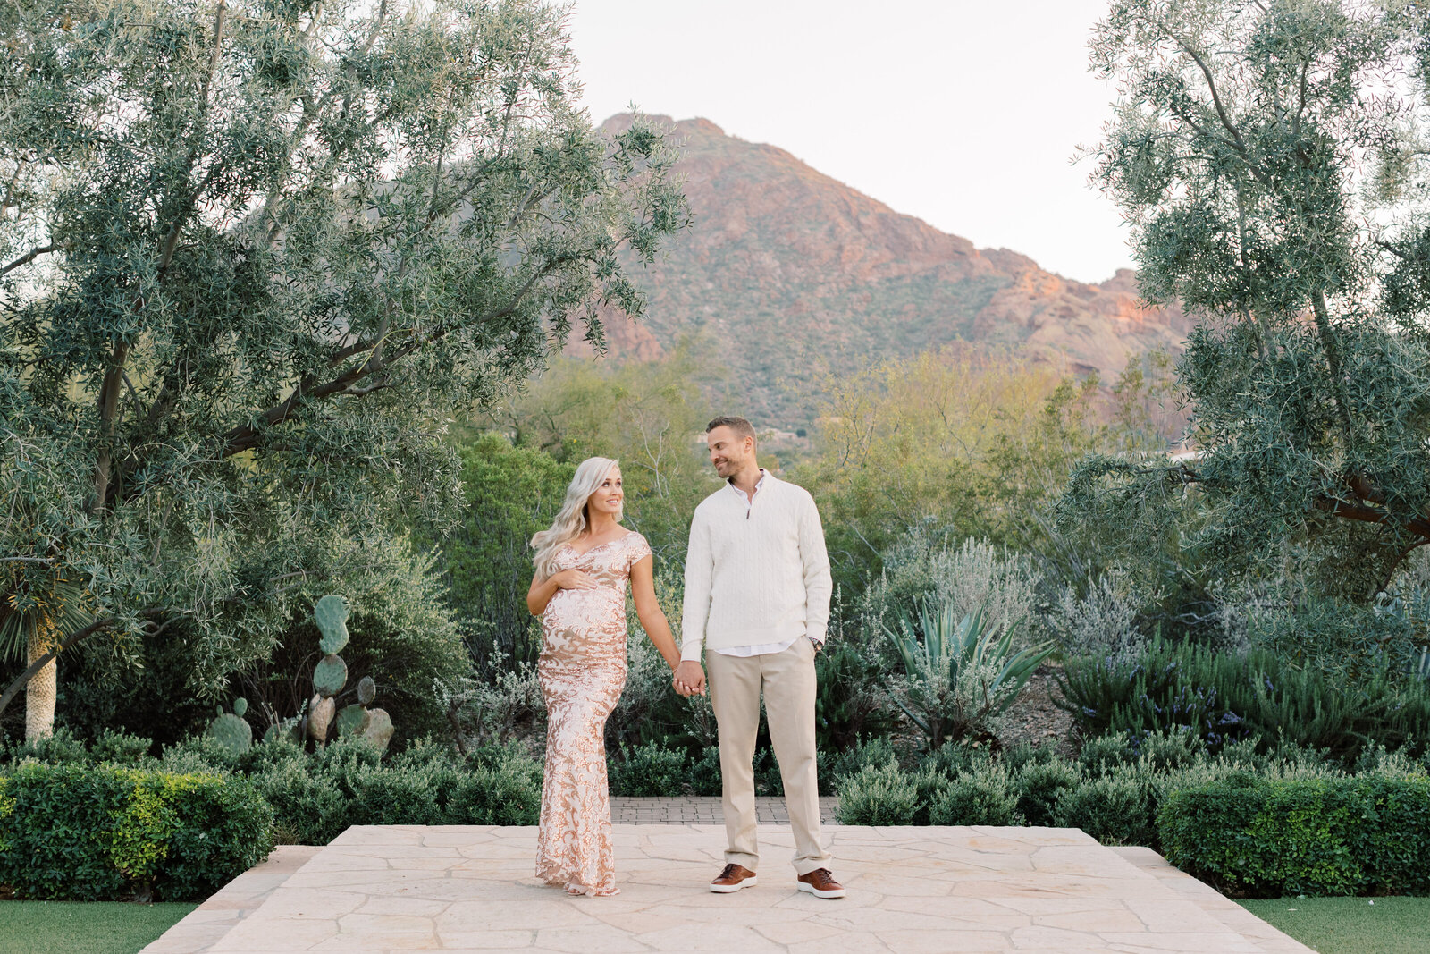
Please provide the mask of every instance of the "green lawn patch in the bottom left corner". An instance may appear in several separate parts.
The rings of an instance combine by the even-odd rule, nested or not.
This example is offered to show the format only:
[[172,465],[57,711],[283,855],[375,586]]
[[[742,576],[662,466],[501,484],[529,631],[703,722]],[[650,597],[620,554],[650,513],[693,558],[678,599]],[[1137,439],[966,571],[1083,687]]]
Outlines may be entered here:
[[6,954],[136,954],[197,904],[0,901]]

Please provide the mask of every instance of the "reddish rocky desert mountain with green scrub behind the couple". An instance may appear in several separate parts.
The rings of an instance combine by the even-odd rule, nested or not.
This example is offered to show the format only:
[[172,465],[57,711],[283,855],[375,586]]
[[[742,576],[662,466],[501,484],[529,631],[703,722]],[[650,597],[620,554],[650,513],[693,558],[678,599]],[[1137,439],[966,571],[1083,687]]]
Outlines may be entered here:
[[[685,144],[678,169],[695,226],[638,277],[651,308],[638,325],[611,322],[609,352],[655,358],[704,332],[762,395],[749,410],[768,425],[808,423],[831,373],[958,340],[1111,380],[1134,355],[1178,352],[1191,326],[1178,309],[1140,308],[1130,270],[1074,282],[1017,252],[975,249],[709,120],[656,120]],[[619,114],[605,127],[629,123]]]

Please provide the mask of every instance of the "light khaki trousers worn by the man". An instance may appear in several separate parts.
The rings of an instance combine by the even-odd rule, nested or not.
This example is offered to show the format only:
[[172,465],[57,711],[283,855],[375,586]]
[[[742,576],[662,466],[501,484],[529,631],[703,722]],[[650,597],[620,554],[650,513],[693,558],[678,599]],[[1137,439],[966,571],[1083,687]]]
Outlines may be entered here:
[[814,744],[814,644],[801,636],[784,652],[758,657],[705,654],[711,707],[719,729],[719,772],[725,805],[728,864],[759,870],[755,837],[755,735],[759,697],[765,697],[769,741],[775,745],[785,807],[795,835],[794,867],[809,874],[829,867],[819,837],[819,785]]

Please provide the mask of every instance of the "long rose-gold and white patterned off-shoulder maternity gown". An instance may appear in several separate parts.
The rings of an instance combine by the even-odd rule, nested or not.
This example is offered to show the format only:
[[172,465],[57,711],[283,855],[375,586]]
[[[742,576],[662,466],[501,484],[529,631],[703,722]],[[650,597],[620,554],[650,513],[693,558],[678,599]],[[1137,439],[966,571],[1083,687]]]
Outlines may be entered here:
[[585,554],[566,546],[556,569],[579,569],[596,589],[558,589],[541,616],[536,664],[546,701],[536,877],[585,894],[616,894],[606,791],[606,717],[626,678],[625,596],[631,566],[651,555],[639,533]]

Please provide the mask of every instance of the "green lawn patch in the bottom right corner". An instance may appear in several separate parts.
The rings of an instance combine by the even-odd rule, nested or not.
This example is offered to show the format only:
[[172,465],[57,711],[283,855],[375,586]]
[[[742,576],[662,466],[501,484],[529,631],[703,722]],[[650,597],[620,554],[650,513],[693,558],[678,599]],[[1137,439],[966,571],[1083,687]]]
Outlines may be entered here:
[[1430,951],[1430,898],[1277,898],[1240,904],[1326,954]]

